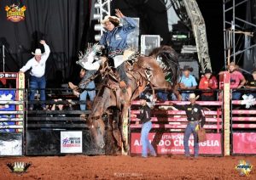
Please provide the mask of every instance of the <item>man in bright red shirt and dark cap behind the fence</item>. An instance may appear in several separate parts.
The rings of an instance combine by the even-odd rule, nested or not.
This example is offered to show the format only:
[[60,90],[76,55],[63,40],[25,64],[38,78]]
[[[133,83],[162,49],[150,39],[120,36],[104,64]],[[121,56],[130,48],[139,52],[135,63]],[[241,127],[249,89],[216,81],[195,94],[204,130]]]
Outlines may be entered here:
[[[203,90],[218,88],[218,81],[215,76],[212,76],[212,70],[209,70],[209,69],[205,70],[205,75],[201,77],[201,80],[199,82],[199,88]],[[214,93],[213,92],[201,93],[201,100],[214,101]]]

